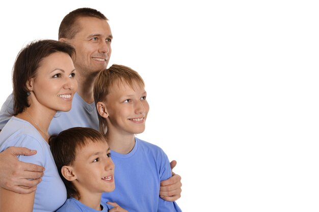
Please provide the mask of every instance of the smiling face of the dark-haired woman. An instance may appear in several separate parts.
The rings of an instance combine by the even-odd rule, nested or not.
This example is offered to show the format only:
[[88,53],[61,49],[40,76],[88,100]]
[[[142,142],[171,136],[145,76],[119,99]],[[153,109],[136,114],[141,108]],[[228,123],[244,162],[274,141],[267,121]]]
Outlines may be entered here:
[[71,57],[64,52],[55,52],[43,58],[36,77],[30,80],[30,86],[31,104],[69,111],[77,90]]

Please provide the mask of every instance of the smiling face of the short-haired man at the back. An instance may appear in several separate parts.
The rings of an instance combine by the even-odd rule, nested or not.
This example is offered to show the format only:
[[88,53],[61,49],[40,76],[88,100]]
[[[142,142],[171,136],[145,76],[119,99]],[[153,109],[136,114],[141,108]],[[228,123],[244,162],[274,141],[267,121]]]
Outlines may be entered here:
[[95,76],[100,70],[107,68],[111,56],[112,33],[106,20],[94,17],[80,17],[76,23],[80,31],[72,39],[76,51],[74,66],[83,77]]

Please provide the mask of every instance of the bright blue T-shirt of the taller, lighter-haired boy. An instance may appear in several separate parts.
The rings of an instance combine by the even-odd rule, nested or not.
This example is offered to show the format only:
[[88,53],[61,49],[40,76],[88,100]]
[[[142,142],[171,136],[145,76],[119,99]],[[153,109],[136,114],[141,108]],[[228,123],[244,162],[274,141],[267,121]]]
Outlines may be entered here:
[[159,197],[162,180],[171,177],[171,166],[164,151],[135,138],[135,146],[123,155],[111,150],[115,164],[115,190],[104,192],[102,202],[116,202],[129,212],[181,211],[176,202]]

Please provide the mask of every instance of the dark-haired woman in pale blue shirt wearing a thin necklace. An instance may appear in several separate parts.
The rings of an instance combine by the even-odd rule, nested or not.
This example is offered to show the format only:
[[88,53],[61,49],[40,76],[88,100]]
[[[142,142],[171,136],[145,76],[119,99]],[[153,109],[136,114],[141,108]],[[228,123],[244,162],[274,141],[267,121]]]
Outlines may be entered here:
[[33,41],[23,48],[13,69],[13,116],[0,133],[0,151],[9,146],[37,150],[20,156],[23,162],[45,167],[44,176],[31,194],[0,188],[0,211],[55,211],[66,200],[48,145],[48,127],[57,111],[69,111],[77,89],[72,46],[54,40]]

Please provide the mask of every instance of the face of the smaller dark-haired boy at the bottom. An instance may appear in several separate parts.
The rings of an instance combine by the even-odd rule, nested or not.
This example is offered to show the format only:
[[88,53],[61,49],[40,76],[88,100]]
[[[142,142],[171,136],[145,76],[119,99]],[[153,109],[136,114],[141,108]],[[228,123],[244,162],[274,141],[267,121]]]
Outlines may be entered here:
[[77,147],[72,169],[76,176],[74,186],[81,195],[115,189],[114,163],[105,140],[91,141],[84,147]]

